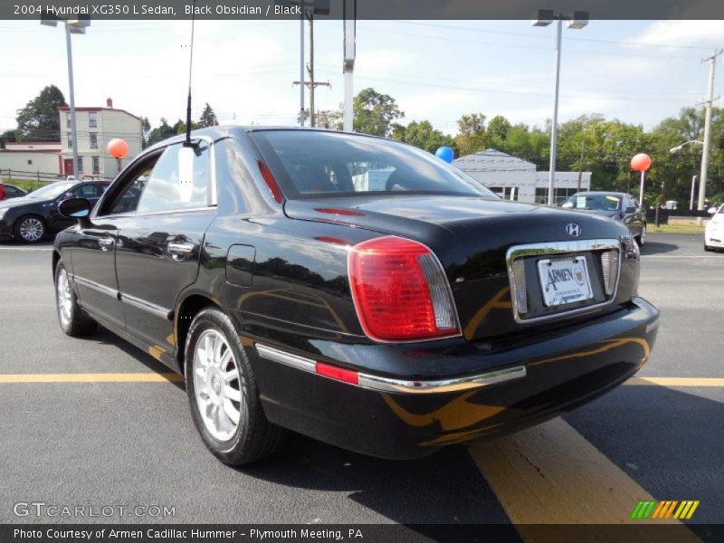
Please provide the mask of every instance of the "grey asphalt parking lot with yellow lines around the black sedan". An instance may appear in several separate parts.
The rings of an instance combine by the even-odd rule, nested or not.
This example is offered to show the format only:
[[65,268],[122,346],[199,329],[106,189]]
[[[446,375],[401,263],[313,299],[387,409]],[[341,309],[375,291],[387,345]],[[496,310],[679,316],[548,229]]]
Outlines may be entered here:
[[[652,498],[700,500],[687,524],[704,539],[696,524],[724,522],[724,253],[703,252],[700,236],[649,236],[640,293],[662,310],[653,355],[574,413],[414,462],[295,435],[245,469],[205,450],[183,385],[152,357],[103,329],[62,334],[50,259],[50,243],[0,243],[2,523],[621,523]],[[33,501],[174,515],[15,515]]]

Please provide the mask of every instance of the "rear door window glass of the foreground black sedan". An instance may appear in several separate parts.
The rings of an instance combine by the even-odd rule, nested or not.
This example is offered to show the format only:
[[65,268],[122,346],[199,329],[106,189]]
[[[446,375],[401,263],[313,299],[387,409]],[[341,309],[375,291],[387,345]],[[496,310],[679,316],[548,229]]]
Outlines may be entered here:
[[172,145],[158,158],[156,166],[140,190],[138,213],[157,213],[194,209],[208,205],[210,176],[209,145],[202,141],[195,147],[194,185],[190,193],[181,190],[178,181],[178,150],[181,144]]

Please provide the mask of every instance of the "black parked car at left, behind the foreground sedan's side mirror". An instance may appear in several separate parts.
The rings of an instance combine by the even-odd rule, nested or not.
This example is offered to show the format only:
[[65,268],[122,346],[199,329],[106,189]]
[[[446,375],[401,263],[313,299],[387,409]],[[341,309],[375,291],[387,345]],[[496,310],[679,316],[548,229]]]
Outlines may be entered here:
[[40,242],[45,235],[59,232],[74,223],[58,213],[58,204],[62,200],[86,198],[95,204],[109,185],[107,181],[56,181],[22,198],[4,200],[0,202],[0,239]]

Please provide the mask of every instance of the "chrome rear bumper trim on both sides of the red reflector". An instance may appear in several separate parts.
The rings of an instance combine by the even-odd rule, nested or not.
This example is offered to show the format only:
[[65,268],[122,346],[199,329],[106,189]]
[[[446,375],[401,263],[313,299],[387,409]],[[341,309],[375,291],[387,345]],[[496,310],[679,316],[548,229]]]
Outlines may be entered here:
[[[295,367],[302,371],[317,374],[317,362],[310,358],[300,357],[281,351],[278,348],[256,344],[256,351],[260,357],[279,362],[285,366]],[[395,392],[400,394],[443,394],[447,392],[459,392],[481,386],[494,385],[512,379],[519,379],[526,376],[525,366],[506,367],[495,371],[486,372],[475,376],[463,376],[452,379],[436,380],[405,380],[390,377],[374,376],[366,373],[359,373],[358,384],[362,388],[376,390],[378,392]]]

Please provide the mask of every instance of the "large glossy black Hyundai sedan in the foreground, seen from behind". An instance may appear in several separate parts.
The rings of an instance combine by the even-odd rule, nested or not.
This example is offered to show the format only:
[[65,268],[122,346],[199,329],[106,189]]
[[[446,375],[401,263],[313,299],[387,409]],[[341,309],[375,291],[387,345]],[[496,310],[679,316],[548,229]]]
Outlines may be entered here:
[[623,224],[383,138],[199,130],[61,212],[63,331],[100,323],[183,374],[229,464],[288,429],[414,458],[536,424],[633,376],[659,322]]

